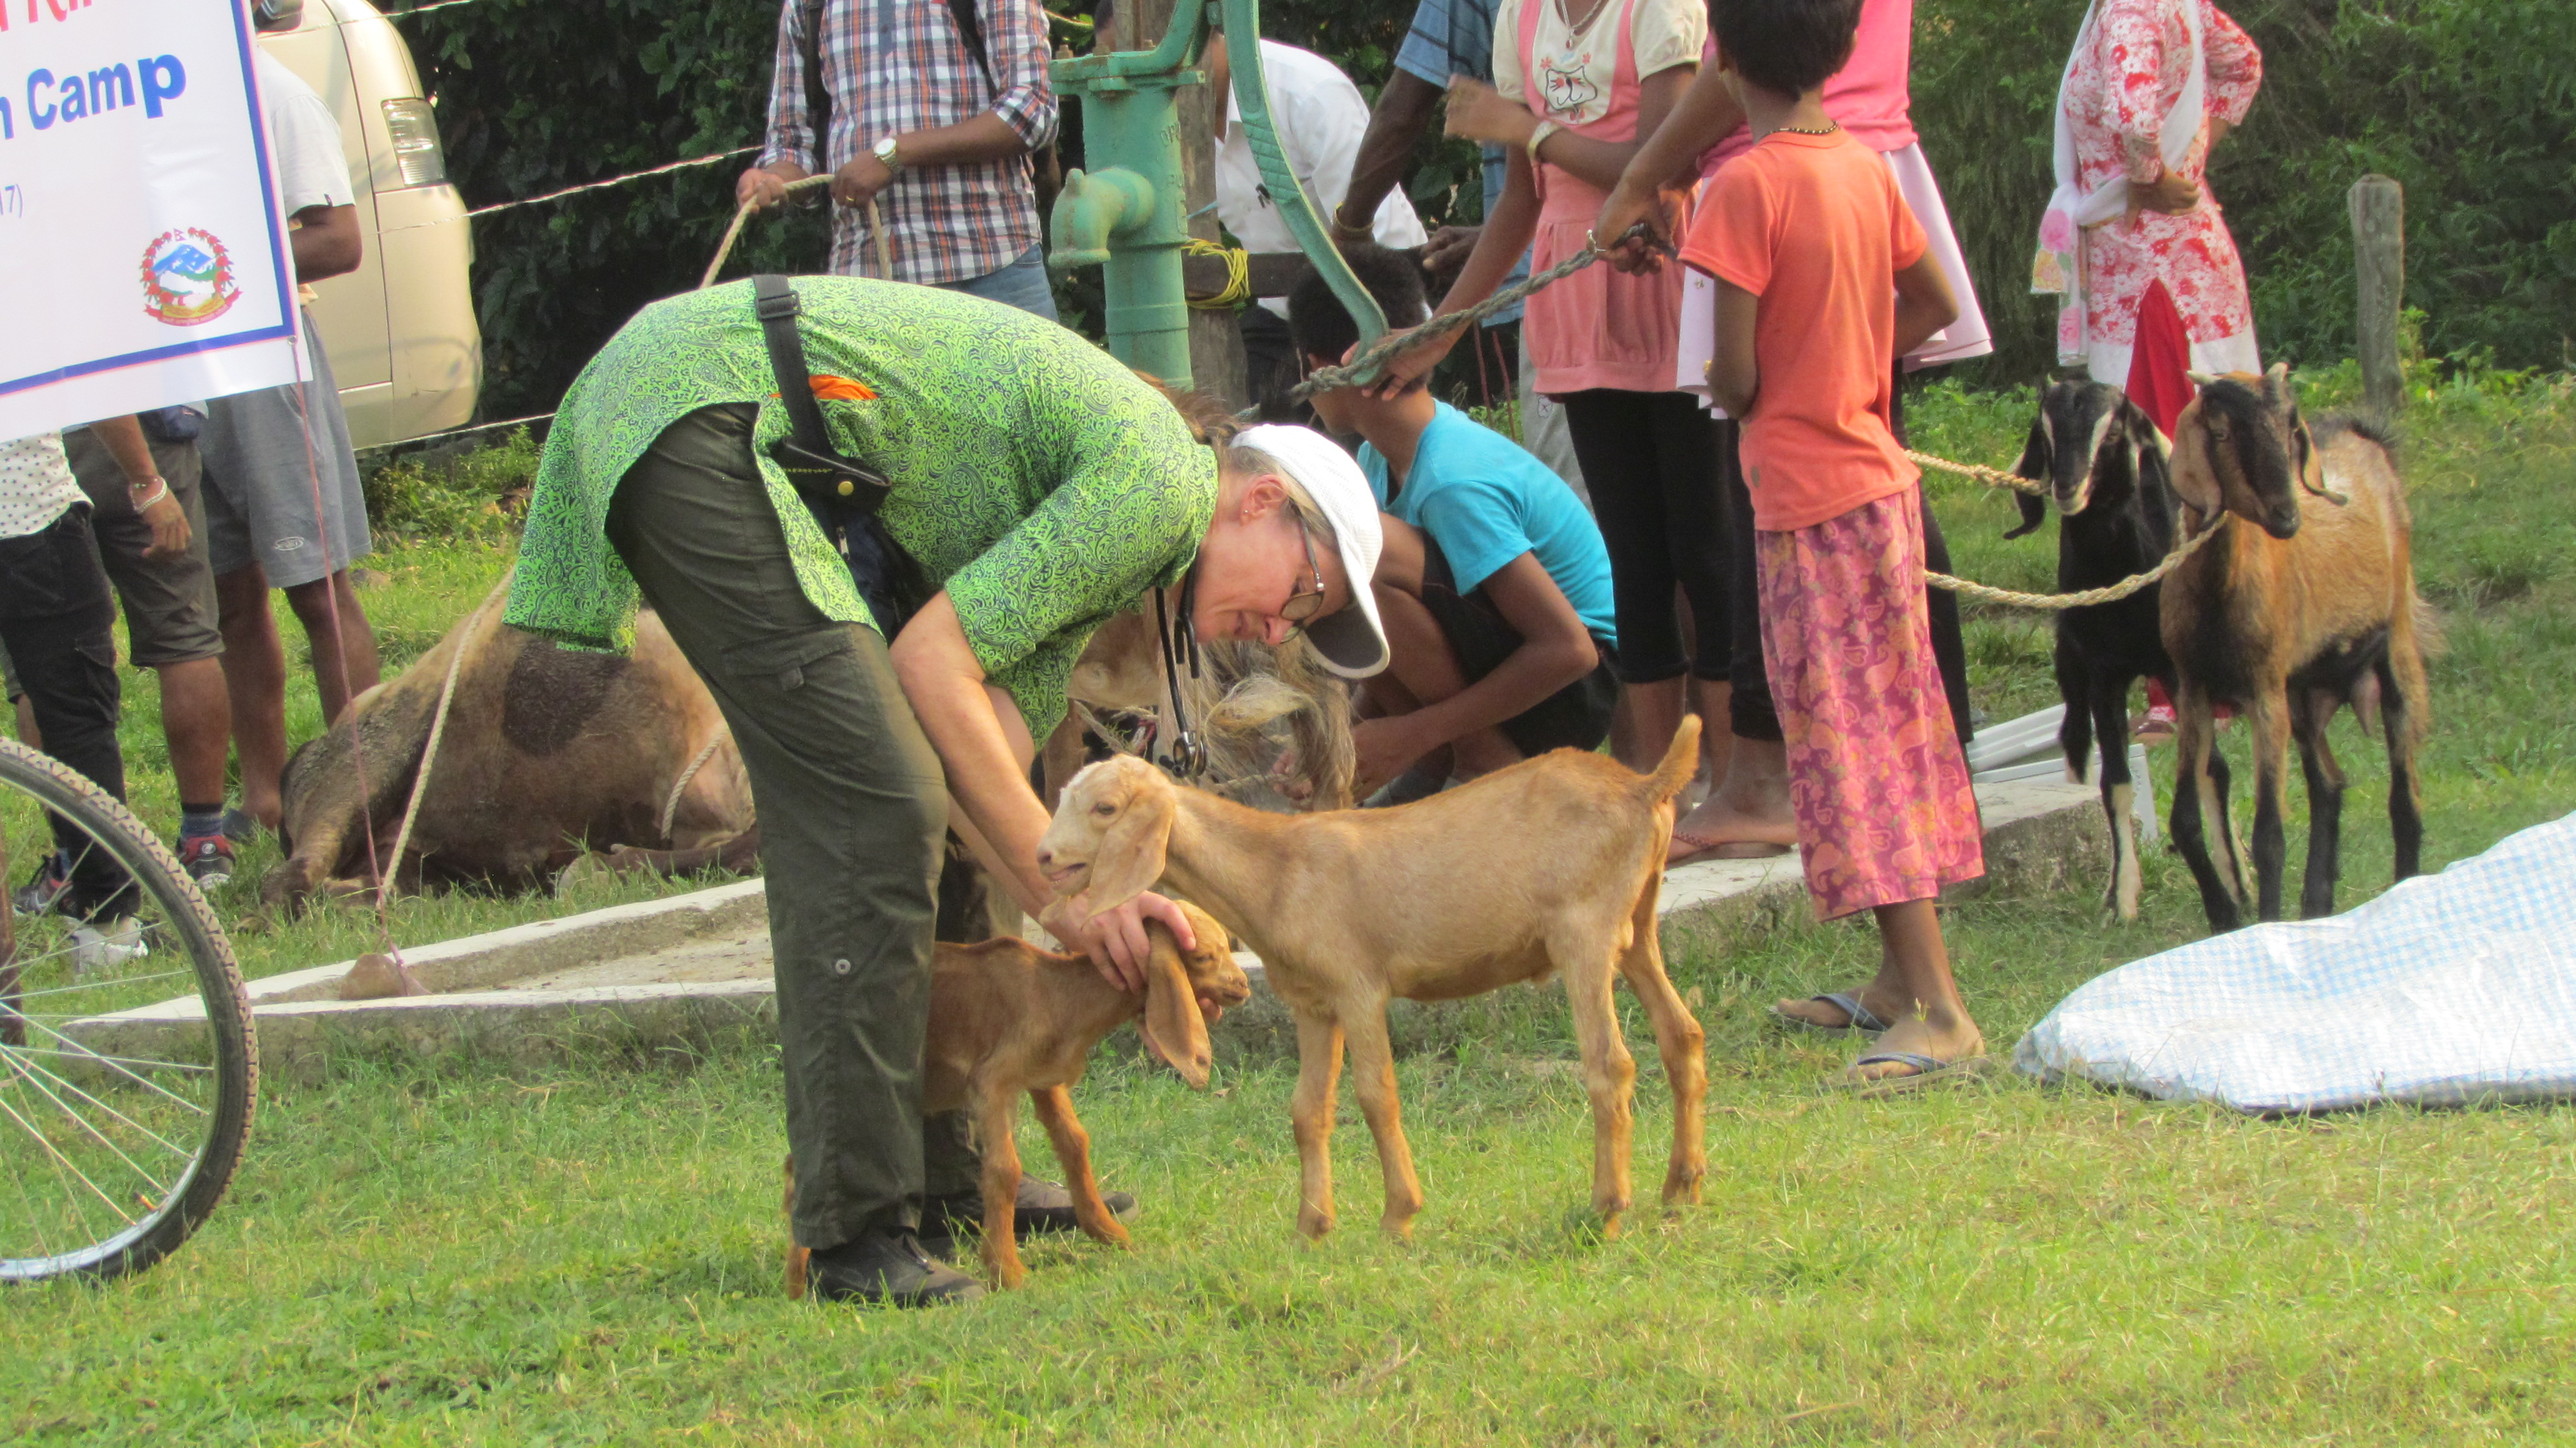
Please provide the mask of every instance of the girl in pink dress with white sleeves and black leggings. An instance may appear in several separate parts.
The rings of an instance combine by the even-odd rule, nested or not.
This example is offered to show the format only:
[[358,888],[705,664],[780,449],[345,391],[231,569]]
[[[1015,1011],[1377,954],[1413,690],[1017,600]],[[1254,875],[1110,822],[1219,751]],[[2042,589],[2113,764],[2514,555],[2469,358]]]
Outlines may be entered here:
[[[1448,131],[1507,147],[1510,170],[1440,312],[1492,296],[1533,240],[1530,271],[1584,247],[1607,188],[1698,72],[1705,36],[1698,0],[1497,5],[1494,85],[1455,77]],[[1535,386],[1566,405],[1610,546],[1613,667],[1631,714],[1620,755],[1631,765],[1672,742],[1685,678],[1726,680],[1734,636],[1713,420],[1674,389],[1680,291],[1680,268],[1628,276],[1589,265],[1533,294],[1522,322]],[[1430,376],[1445,350],[1435,343],[1401,353],[1381,389]],[[1687,657],[1674,587],[1695,626]],[[1703,706],[1718,709],[1718,698],[1703,693]]]

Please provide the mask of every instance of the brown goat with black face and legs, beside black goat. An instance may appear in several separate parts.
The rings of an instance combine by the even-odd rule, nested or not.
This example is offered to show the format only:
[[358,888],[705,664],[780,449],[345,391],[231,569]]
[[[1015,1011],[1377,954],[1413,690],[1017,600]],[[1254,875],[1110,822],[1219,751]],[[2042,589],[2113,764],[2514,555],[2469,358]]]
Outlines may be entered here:
[[2210,861],[2202,817],[2226,835],[2226,773],[2213,703],[2246,714],[2254,739],[2254,876],[2262,920],[2280,920],[2287,750],[2308,776],[2306,917],[2334,915],[2344,770],[2326,724],[2347,701],[2362,729],[2378,714],[2388,742],[2388,824],[2396,873],[2421,866],[2416,750],[2429,724],[2424,647],[2439,644],[2416,598],[2411,520],[2388,441],[2347,417],[2298,415],[2290,368],[2192,376],[2200,397],[2174,423],[2182,526],[2228,513],[2226,536],[2164,580],[2164,647],[2174,657],[2174,848],[2200,881],[2213,930],[2244,920],[2236,850]]

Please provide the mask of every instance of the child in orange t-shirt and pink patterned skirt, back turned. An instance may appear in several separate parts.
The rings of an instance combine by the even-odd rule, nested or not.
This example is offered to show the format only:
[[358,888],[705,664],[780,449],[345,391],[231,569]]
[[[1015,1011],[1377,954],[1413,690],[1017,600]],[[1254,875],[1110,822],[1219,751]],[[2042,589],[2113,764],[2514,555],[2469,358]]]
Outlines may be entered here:
[[1824,920],[1878,915],[1878,979],[1847,1010],[1893,1025],[1852,1080],[1927,1080],[1986,1046],[1932,910],[1986,863],[1932,660],[1888,358],[1950,325],[1958,301],[1886,162],[1824,113],[1860,0],[1731,0],[1713,18],[1754,149],[1710,180],[1682,260],[1718,281],[1708,386],[1744,420],[1762,657],[1806,886]]

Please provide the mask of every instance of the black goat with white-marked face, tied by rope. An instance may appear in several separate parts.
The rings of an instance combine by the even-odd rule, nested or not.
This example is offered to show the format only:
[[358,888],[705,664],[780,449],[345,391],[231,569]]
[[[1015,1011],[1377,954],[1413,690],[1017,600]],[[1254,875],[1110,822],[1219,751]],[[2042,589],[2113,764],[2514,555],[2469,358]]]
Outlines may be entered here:
[[[2166,443],[2156,423],[2102,381],[2061,381],[2040,397],[2017,474],[2048,482],[2058,505],[2058,593],[2105,587],[2141,575],[2174,549],[2174,487]],[[2048,505],[2020,495],[2020,538],[2048,520]],[[2138,678],[2174,688],[2174,660],[2164,652],[2159,590],[2151,582],[2128,598],[2058,613],[2056,672],[2066,721],[2058,747],[2066,773],[2084,781],[2094,739],[2102,742],[2102,812],[2110,817],[2110,889],[2102,904],[2120,920],[2138,917],[2138,819],[2130,812],[2128,688]],[[2221,799],[2226,763],[2210,755]],[[2221,819],[2223,830],[2223,819]],[[2233,853],[2233,843],[2228,843]]]

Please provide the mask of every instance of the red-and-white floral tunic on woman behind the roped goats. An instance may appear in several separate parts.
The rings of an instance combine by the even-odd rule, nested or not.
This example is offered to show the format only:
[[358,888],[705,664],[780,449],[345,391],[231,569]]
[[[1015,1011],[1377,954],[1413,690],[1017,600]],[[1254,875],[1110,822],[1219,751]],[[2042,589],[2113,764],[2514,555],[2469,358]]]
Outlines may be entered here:
[[[2092,191],[2115,175],[2148,183],[2164,160],[2156,152],[2164,116],[2190,80],[2192,39],[2182,5],[2200,5],[2208,54],[2202,108],[2210,119],[2244,121],[2262,88],[2262,52],[2208,0],[2102,0],[2094,44],[2076,52],[2066,80],[2076,144],[2076,186]],[[2208,129],[2192,142],[2182,175],[2202,180]],[[2156,281],[2174,296],[2182,327],[2195,343],[2215,343],[2254,330],[2244,263],[2218,201],[2202,180],[2200,206],[2182,216],[2138,211],[2087,234],[2084,327],[2097,343],[2130,345],[2138,335],[2138,299]],[[2112,384],[2125,379],[2107,379]]]

